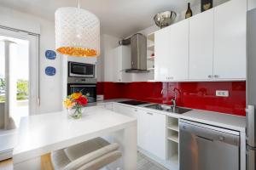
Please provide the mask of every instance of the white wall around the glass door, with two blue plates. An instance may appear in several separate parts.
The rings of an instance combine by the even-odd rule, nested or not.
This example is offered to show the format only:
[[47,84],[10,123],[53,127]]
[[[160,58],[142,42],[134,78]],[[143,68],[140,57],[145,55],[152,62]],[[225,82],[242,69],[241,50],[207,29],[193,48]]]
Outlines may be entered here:
[[[47,49],[55,49],[55,26],[54,22],[44,20],[31,14],[22,13],[11,8],[0,6],[0,25],[8,26],[23,31],[40,33],[40,111],[45,113],[61,110],[61,59],[57,56],[55,60],[44,57]],[[56,68],[56,75],[49,77],[44,74],[46,66]],[[2,111],[0,108],[0,115]],[[2,117],[0,116],[0,120]]]

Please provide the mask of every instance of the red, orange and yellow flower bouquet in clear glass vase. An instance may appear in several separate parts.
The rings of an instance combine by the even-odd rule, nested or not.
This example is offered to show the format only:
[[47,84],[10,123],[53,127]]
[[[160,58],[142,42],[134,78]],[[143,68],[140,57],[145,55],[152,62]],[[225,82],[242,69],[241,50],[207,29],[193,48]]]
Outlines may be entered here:
[[83,108],[87,105],[87,96],[80,92],[73,93],[67,96],[64,101],[64,105],[67,108],[68,115],[72,116],[74,119],[79,119],[82,117]]

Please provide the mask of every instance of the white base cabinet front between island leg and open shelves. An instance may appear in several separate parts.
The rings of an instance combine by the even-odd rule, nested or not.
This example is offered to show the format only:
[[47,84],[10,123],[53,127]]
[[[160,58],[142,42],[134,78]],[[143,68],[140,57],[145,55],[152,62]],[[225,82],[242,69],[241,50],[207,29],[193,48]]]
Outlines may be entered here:
[[138,146],[166,160],[166,116],[138,110]]

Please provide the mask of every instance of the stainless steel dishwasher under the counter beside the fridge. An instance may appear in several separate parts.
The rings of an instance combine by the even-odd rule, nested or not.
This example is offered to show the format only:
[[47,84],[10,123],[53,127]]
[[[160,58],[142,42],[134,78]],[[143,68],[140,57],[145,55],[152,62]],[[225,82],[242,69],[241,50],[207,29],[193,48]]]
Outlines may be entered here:
[[240,133],[198,122],[179,122],[180,170],[239,170]]

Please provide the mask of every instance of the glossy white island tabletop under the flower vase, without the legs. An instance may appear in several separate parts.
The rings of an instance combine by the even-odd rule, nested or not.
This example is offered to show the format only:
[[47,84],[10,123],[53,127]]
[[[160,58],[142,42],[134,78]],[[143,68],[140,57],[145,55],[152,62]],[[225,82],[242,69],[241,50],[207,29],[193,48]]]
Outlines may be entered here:
[[66,111],[22,117],[14,163],[137,125],[135,118],[97,106],[87,107],[84,114],[79,120],[67,117]]

